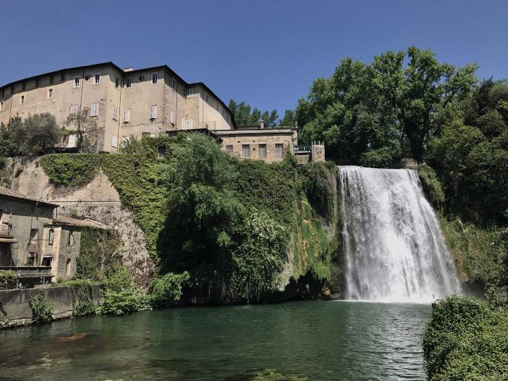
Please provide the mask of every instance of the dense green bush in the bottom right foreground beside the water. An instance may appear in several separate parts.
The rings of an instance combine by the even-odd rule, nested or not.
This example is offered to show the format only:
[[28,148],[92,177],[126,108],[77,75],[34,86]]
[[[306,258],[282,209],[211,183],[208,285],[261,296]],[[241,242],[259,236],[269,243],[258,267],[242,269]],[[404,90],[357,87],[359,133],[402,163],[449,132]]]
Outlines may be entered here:
[[432,308],[423,347],[430,380],[506,380],[508,312],[472,297],[447,297]]

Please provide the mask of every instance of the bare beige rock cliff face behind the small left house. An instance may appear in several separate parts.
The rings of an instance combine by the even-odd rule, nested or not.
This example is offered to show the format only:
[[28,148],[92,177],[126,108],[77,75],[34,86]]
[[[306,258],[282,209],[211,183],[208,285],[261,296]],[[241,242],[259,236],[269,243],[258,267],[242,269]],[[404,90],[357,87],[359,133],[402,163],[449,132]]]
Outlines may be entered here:
[[60,205],[58,214],[90,216],[113,228],[122,242],[124,264],[135,281],[148,288],[155,263],[146,250],[143,231],[132,221],[132,212],[122,207],[118,192],[102,171],[84,186],[57,187],[49,182],[40,159],[14,158],[3,174],[3,184],[11,189]]

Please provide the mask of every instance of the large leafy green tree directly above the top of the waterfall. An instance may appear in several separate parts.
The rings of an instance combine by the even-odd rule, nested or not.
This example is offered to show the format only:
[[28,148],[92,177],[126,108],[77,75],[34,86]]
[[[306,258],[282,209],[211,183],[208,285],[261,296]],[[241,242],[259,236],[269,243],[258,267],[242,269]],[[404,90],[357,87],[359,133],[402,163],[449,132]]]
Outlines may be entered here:
[[414,46],[376,56],[371,65],[345,58],[299,100],[301,140],[324,140],[330,156],[356,163],[384,164],[401,154],[420,159],[442,114],[470,93],[475,70],[440,63]]

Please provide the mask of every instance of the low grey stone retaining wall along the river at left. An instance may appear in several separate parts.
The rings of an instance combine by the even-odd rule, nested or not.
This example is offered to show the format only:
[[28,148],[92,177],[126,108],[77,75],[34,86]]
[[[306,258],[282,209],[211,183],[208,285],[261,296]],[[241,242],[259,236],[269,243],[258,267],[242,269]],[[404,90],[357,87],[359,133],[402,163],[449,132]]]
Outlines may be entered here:
[[[91,293],[91,301],[95,305],[100,305],[99,285],[79,287],[89,287],[86,292]],[[47,287],[0,291],[0,327],[32,323],[32,308],[29,302],[30,298],[36,297],[38,292],[44,292],[49,301],[54,304],[51,314],[54,314],[55,319],[72,316],[80,303],[76,290],[73,287]]]

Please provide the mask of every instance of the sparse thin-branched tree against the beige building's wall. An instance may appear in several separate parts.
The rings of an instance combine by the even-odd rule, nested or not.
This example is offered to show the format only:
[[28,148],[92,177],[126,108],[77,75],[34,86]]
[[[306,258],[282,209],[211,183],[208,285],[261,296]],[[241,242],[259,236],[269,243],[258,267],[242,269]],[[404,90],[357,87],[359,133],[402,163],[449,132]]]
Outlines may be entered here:
[[65,122],[68,134],[76,135],[76,143],[80,152],[95,152],[97,138],[104,130],[97,124],[97,120],[90,116],[89,108],[82,108],[78,113],[69,114]]

